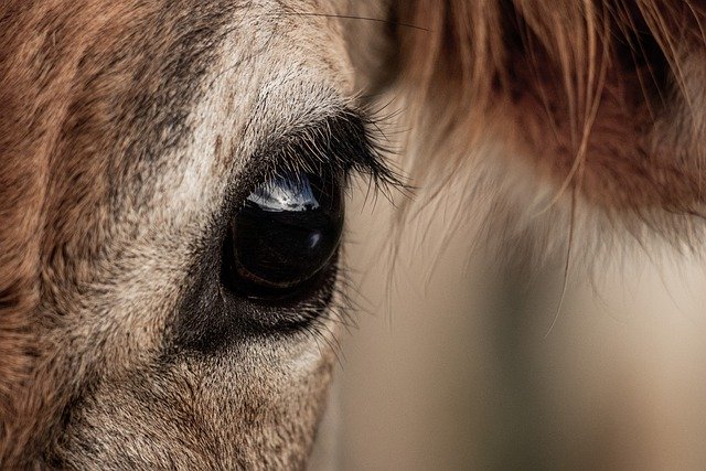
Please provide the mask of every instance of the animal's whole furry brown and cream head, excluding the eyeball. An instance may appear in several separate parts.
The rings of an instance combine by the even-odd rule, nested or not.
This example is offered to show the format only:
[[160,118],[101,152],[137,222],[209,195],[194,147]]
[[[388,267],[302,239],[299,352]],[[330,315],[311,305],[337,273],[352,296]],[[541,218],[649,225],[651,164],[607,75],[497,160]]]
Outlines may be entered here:
[[293,306],[226,302],[218,276],[234,202],[302,152],[382,143],[507,257],[697,247],[705,20],[700,0],[3,0],[0,467],[303,468],[343,276]]

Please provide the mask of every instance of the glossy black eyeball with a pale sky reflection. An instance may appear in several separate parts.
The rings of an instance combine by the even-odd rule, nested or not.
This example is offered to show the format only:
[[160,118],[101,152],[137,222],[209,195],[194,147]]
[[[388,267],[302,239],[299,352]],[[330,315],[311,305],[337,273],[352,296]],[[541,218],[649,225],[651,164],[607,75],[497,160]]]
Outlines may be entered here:
[[271,179],[247,196],[231,224],[226,286],[258,299],[310,288],[331,264],[342,228],[339,178],[300,173]]

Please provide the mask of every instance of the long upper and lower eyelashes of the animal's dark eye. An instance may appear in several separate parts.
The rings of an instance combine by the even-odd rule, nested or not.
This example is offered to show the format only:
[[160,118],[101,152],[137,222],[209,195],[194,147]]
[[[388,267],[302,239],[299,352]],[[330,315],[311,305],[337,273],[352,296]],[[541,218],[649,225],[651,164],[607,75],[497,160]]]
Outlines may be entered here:
[[[272,139],[253,159],[257,167],[242,175],[240,181],[247,186],[240,186],[240,196],[231,200],[232,207],[244,204],[242,196],[267,182],[281,179],[296,185],[306,173],[336,179],[344,190],[350,190],[354,174],[362,175],[368,181],[368,194],[374,190],[374,194],[382,193],[389,200],[394,190],[406,192],[409,186],[402,174],[385,160],[392,152],[385,148],[387,139],[378,122],[361,113],[339,110],[319,124],[301,126]],[[354,292],[354,283],[339,265],[330,285],[311,299],[298,301],[292,308],[296,315],[285,315],[282,329],[276,334],[299,332],[314,340],[320,349],[332,350],[340,361],[342,351],[330,330],[332,325],[346,331],[357,327],[355,317],[365,310],[353,301],[351,293]]]

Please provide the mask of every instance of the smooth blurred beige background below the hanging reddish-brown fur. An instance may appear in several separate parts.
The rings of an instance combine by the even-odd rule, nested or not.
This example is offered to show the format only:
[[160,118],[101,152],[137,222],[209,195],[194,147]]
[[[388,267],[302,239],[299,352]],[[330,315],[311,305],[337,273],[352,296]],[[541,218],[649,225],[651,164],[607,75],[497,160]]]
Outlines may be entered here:
[[[428,211],[391,261],[391,205],[350,207],[364,311],[311,469],[706,469],[706,275],[649,257],[591,283],[471,251]],[[436,214],[436,216],[434,216]]]

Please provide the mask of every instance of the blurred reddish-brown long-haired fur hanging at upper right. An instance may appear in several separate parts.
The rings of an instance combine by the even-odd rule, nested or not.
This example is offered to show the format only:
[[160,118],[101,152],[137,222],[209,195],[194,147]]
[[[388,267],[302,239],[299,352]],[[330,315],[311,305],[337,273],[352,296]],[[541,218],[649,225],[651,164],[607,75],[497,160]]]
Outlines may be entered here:
[[[501,218],[522,205],[561,212],[567,201],[569,212],[602,214],[606,226],[694,242],[689,225],[698,218],[684,216],[704,213],[703,2],[421,0],[395,8],[400,23],[417,26],[397,29],[393,95],[408,110],[405,126],[425,130],[424,139],[408,138],[420,185],[440,191],[489,164],[523,169],[536,188],[517,201],[501,182]],[[479,152],[489,142],[502,147],[495,163]],[[553,194],[528,207],[547,185]]]

